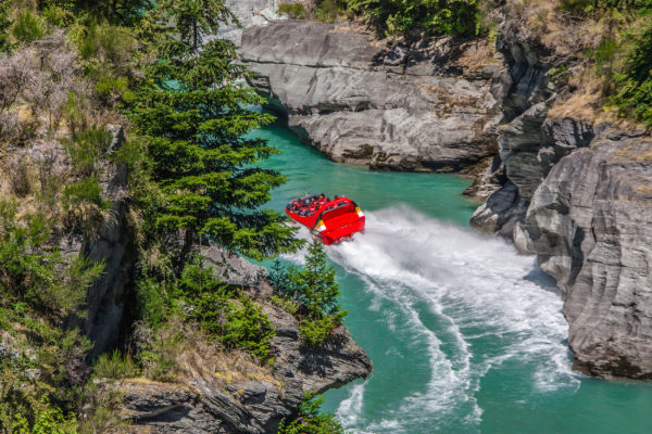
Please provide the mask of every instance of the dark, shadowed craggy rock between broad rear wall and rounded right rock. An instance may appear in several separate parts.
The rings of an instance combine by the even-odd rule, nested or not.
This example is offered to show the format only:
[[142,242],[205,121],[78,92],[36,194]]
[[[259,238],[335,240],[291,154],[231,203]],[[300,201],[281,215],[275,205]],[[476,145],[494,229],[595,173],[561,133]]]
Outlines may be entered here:
[[[542,151],[542,148],[554,148],[554,141],[544,143],[542,132],[548,104],[553,101],[554,93],[546,76],[549,66],[540,61],[541,49],[519,35],[517,26],[503,23],[497,49],[504,55],[509,71],[493,82],[493,87],[500,88],[503,94],[501,108],[507,122],[499,129],[498,143],[509,183],[496,190],[476,210],[471,225],[515,240],[529,199],[552,164],[559,161],[554,159],[554,154],[548,155],[547,151]],[[555,127],[556,124],[551,126]],[[490,188],[491,182],[487,186],[487,189]]]

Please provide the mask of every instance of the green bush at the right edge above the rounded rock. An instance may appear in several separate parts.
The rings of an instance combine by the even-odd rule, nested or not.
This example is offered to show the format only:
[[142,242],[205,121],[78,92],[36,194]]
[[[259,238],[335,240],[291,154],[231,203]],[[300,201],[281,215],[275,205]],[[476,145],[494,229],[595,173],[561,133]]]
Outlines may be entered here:
[[613,103],[622,116],[652,127],[652,25],[636,38],[623,71],[615,75]]

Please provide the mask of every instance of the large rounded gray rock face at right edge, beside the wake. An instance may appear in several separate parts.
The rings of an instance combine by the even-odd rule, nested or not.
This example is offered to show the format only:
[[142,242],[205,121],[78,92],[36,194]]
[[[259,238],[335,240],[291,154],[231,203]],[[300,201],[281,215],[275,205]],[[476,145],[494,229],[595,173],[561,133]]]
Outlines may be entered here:
[[598,138],[556,164],[525,219],[562,289],[578,369],[652,380],[652,141]]

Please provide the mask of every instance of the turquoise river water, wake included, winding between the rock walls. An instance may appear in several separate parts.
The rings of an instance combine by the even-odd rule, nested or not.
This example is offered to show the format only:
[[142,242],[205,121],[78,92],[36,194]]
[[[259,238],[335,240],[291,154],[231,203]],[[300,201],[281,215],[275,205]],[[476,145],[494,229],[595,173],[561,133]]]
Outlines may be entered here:
[[374,362],[325,395],[350,432],[652,433],[651,385],[572,372],[553,282],[467,229],[466,180],[337,165],[279,126],[256,135],[284,152],[265,163],[288,176],[272,207],[346,193],[367,215],[365,234],[328,247],[346,323]]

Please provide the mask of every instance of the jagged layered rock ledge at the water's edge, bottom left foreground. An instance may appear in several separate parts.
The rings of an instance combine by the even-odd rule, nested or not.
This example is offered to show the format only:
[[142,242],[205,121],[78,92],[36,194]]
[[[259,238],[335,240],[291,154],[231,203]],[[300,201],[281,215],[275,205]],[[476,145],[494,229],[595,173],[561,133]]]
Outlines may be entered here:
[[[195,372],[184,385],[126,381],[125,416],[135,432],[276,434],[279,422],[294,413],[306,392],[322,393],[365,378],[372,363],[341,327],[319,349],[300,345],[294,317],[268,302],[272,288],[264,268],[216,247],[203,252],[218,266],[225,283],[246,286],[276,329],[268,378],[228,381]],[[248,284],[247,284],[248,283]]]

